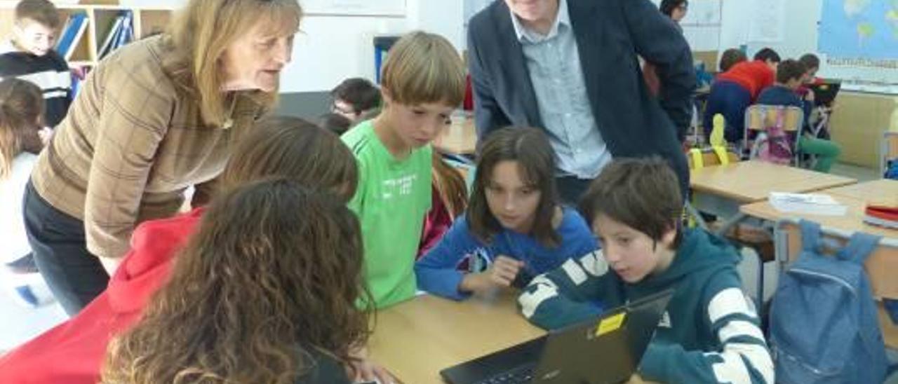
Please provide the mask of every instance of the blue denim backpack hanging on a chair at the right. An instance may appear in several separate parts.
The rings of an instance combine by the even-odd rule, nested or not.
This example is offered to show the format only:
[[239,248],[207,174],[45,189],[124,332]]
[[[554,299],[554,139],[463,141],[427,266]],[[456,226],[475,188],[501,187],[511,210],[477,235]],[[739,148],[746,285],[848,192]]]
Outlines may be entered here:
[[778,383],[882,383],[885,342],[864,261],[879,237],[854,233],[824,256],[820,224],[801,221],[802,251],[779,277],[770,307]]

